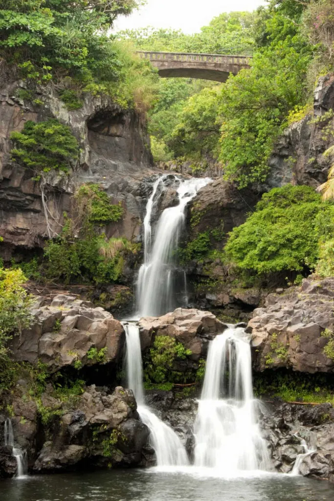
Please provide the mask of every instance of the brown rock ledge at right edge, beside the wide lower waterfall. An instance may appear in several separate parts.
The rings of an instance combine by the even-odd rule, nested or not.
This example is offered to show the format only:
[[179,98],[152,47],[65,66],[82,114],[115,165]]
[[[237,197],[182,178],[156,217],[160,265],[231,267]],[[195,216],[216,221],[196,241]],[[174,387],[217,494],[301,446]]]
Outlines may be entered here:
[[270,294],[248,323],[254,368],[286,367],[299,372],[334,372],[334,360],[323,352],[334,323],[334,278],[303,280],[283,294]]

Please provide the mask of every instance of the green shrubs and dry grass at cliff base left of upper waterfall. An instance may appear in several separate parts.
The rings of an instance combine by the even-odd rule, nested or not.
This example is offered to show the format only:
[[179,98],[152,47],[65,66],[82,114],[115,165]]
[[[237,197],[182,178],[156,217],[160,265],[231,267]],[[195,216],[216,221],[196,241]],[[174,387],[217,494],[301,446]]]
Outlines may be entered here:
[[98,184],[83,184],[74,199],[77,217],[67,218],[61,235],[45,246],[46,278],[66,284],[79,277],[96,284],[118,281],[123,273],[124,255],[135,254],[138,245],[126,238],[107,239],[99,227],[118,221],[123,207],[110,203]]

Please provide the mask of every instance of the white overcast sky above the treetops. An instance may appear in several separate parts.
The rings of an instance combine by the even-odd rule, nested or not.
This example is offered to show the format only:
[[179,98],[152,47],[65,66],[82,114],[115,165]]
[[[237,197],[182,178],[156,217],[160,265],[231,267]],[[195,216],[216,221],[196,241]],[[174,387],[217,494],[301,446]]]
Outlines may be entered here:
[[147,5],[129,17],[120,17],[115,31],[127,28],[181,28],[195,33],[222,12],[253,11],[264,0],[148,0]]

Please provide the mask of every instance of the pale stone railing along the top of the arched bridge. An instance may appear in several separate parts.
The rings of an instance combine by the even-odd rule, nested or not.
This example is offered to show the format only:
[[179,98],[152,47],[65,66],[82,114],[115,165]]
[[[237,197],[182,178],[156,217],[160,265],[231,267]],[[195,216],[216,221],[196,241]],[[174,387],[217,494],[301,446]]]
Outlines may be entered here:
[[184,61],[184,62],[201,62],[215,64],[236,64],[241,66],[249,66],[251,56],[230,56],[225,54],[189,54],[181,52],[150,52],[137,51],[142,59],[150,61]]

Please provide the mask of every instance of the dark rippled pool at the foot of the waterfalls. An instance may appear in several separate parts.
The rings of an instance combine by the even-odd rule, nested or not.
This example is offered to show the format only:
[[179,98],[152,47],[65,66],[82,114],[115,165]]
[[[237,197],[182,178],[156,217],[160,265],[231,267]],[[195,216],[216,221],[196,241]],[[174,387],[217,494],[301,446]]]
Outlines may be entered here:
[[[190,473],[190,471],[192,471]],[[263,474],[205,476],[195,470],[110,470],[27,477],[0,482],[1,501],[333,501],[327,481]]]

